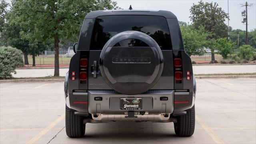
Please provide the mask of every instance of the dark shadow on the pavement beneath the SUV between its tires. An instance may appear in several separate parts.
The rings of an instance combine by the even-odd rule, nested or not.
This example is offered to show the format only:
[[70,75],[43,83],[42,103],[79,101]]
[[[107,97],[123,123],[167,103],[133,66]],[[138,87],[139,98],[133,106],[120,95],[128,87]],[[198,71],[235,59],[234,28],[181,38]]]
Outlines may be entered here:
[[[86,124],[86,143],[177,143],[173,123],[109,122]],[[184,138],[188,139],[188,138]],[[155,142],[154,142],[155,141]]]

